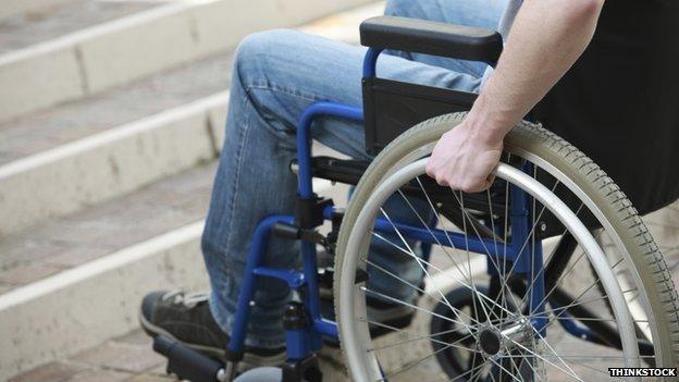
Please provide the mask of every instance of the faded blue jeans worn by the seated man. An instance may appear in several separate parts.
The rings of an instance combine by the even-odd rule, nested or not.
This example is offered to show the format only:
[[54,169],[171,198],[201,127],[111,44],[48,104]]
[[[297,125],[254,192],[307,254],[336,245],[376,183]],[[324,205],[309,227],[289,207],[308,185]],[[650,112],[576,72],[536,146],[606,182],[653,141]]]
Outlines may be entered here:
[[[496,28],[504,5],[505,0],[392,0],[385,12]],[[272,213],[294,213],[296,176],[288,164],[296,157],[297,121],[318,101],[361,104],[365,51],[294,30],[254,34],[238,47],[226,138],[202,236],[212,288],[210,308],[226,333],[231,333],[257,223]],[[485,64],[477,62],[396,52],[382,54],[378,64],[381,77],[467,91],[478,91],[484,70]],[[337,151],[370,159],[359,123],[325,118],[311,131],[314,139]],[[393,248],[373,247],[378,248],[371,248],[372,261],[416,285],[420,282],[422,272],[412,258]],[[272,238],[266,261],[270,267],[298,266],[298,244]],[[371,272],[370,287],[396,298],[408,298],[413,292],[382,272]],[[281,317],[289,294],[282,282],[258,283],[247,345],[273,348],[284,344]]]

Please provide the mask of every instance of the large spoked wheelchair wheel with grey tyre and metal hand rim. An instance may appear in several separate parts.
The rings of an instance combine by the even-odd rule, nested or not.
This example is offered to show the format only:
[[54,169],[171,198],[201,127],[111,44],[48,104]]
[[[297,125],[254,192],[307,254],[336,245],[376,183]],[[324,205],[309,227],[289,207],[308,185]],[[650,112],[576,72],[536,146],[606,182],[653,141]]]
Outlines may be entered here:
[[[371,163],[347,208],[334,288],[353,380],[598,381],[614,379],[608,368],[677,367],[674,283],[613,181],[561,138],[521,123],[505,139],[489,190],[439,187],[424,174],[425,157],[462,119],[442,115],[399,136]],[[402,198],[420,224],[391,219],[390,197]],[[412,249],[413,239],[433,245],[429,258]],[[427,291],[371,261],[370,244],[380,241],[417,260]],[[375,274],[428,293],[436,306],[376,291]],[[458,297],[471,310],[452,304],[450,285],[467,291]],[[393,328],[372,338],[369,326],[380,323],[366,313],[367,296],[450,326]],[[436,365],[450,349],[467,356],[453,368]]]

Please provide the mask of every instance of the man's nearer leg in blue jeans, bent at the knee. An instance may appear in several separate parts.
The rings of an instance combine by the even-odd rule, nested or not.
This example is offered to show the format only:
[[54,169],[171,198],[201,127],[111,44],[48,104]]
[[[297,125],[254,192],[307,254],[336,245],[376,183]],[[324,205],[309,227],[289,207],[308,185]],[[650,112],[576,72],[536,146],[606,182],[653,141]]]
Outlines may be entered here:
[[[296,157],[296,123],[317,101],[360,104],[363,51],[289,30],[250,36],[238,50],[233,109],[203,236],[213,291],[210,304],[225,330],[233,323],[254,227],[267,214],[294,212],[296,176],[288,164]],[[400,78],[421,77],[421,82],[435,78],[458,88],[478,85],[471,76],[398,58],[387,58],[379,70]],[[361,124],[324,119],[312,132],[316,139],[345,155],[368,159]],[[274,239],[267,261],[273,267],[291,267],[298,256],[289,241]],[[410,268],[408,259],[403,260],[396,262],[398,267]],[[248,345],[271,347],[283,342],[280,318],[288,289],[280,283],[260,285]]]

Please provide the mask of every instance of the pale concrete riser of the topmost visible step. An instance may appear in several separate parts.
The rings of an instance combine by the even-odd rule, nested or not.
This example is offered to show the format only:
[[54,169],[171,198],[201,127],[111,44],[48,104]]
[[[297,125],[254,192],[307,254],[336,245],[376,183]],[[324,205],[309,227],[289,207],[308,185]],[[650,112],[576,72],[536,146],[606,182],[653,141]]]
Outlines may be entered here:
[[34,44],[0,56],[0,88],[9,89],[0,94],[0,121],[232,48],[255,30],[298,25],[366,2],[182,1]]

